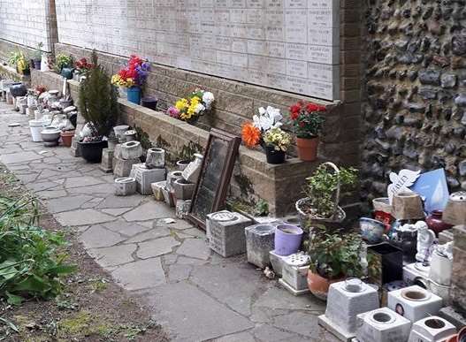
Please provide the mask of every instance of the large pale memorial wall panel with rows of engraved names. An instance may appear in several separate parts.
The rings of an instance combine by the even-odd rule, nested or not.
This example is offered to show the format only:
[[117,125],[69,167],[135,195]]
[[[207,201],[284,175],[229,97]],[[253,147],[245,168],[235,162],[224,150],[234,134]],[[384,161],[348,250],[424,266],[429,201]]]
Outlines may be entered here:
[[86,13],[68,3],[57,2],[64,43],[338,99],[338,0],[138,0],[105,9],[92,2]]

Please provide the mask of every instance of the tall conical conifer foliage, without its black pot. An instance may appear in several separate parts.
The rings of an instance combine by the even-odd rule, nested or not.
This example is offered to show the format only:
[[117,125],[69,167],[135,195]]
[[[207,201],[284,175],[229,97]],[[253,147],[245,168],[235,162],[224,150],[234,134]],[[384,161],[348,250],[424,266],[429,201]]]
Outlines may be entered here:
[[97,54],[92,52],[94,68],[80,82],[79,107],[82,117],[92,125],[93,135],[101,140],[111,132],[118,120],[117,91],[111,86],[110,77],[98,65]]

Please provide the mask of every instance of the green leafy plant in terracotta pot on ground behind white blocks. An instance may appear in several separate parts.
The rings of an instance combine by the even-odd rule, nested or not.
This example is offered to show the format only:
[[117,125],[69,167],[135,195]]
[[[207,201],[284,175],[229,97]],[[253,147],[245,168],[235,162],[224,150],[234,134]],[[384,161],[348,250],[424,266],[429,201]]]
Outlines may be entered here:
[[346,277],[363,277],[363,239],[355,232],[328,233],[317,229],[309,239],[308,286],[310,293],[326,300],[329,286]]

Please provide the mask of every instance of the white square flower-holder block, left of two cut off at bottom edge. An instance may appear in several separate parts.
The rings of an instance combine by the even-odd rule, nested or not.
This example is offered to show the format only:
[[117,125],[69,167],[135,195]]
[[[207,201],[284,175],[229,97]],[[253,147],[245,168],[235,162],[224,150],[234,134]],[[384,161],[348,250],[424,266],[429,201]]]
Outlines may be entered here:
[[389,308],[377,308],[356,317],[359,342],[401,342],[409,338],[411,323]]

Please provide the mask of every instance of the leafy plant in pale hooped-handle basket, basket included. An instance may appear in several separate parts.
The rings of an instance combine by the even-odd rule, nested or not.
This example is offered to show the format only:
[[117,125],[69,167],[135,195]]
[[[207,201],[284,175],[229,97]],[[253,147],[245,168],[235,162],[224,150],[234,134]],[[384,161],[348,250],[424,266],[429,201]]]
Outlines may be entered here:
[[339,206],[340,192],[355,186],[357,170],[351,167],[339,169],[334,163],[327,162],[320,164],[306,180],[306,197],[295,204],[302,223],[338,226],[346,217]]

